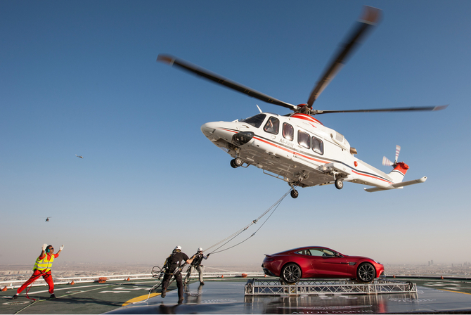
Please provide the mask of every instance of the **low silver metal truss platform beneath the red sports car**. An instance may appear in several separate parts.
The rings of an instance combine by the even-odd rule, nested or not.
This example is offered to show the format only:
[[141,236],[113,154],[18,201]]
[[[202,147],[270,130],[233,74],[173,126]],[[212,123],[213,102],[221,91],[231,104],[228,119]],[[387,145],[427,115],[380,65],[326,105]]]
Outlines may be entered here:
[[301,280],[296,284],[281,284],[279,279],[253,278],[245,284],[247,295],[326,295],[380,293],[417,293],[417,286],[411,282],[400,282],[378,278],[371,283],[358,283],[349,279]]

